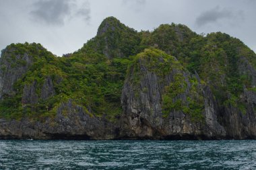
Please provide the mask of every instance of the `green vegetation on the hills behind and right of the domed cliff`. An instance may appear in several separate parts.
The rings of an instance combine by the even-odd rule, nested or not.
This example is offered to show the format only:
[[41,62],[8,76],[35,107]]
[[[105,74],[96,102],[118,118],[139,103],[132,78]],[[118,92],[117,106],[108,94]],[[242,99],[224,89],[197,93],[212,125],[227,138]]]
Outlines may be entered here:
[[142,37],[144,44],[176,56],[191,73],[196,71],[222,107],[230,96],[235,96],[240,104],[232,106],[246,112],[245,101],[240,99],[243,88],[252,89],[255,85],[251,81],[253,75],[243,65],[256,68],[256,54],[243,42],[221,32],[197,35],[181,24],[164,24]]

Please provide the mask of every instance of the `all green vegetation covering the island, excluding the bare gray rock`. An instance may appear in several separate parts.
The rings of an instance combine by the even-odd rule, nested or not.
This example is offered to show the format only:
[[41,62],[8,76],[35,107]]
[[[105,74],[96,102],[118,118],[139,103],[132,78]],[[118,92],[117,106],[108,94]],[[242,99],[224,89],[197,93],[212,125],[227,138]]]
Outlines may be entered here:
[[[121,91],[127,77],[137,91],[135,95],[139,95],[138,90],[148,92],[145,87],[138,88],[143,76],[141,65],[159,77],[158,83],[164,84],[164,117],[179,111],[189,114],[193,121],[203,120],[204,100],[199,84],[210,87],[220,107],[231,105],[244,114],[244,87],[256,91],[251,83],[253,75],[245,68],[256,68],[256,55],[240,40],[220,32],[197,35],[181,24],[164,24],[153,32],[137,32],[108,17],[100,24],[97,36],[73,54],[57,57],[40,44],[27,42],[2,50],[1,74],[20,67],[28,67],[28,71],[14,83],[13,93],[3,95],[0,118],[44,119],[55,116],[59,105],[72,99],[88,114],[104,115],[115,121],[123,112]],[[201,82],[191,74],[184,75],[189,72],[197,72]],[[166,84],[165,77],[170,74],[172,81]],[[55,95],[42,99],[47,77],[53,81]],[[38,100],[22,103],[24,87],[34,83]]]

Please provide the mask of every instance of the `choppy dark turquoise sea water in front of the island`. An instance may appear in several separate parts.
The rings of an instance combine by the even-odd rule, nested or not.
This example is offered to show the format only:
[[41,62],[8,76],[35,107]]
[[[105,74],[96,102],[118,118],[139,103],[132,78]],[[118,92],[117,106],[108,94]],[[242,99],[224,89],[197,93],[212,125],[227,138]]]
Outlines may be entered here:
[[256,169],[256,140],[0,140],[0,169]]

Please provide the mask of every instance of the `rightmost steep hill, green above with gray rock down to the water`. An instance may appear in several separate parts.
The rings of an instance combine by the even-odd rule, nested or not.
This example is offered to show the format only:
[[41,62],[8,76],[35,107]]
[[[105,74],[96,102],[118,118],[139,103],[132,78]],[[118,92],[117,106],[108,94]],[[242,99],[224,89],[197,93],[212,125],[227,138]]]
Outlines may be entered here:
[[200,75],[218,99],[221,124],[232,137],[256,136],[255,53],[240,40],[222,33],[208,35],[207,44],[210,54],[204,55]]

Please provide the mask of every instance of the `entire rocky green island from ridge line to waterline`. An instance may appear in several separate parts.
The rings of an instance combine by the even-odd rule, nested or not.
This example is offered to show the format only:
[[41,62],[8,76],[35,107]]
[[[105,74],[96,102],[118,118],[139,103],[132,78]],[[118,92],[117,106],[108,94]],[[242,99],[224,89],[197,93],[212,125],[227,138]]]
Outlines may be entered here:
[[256,138],[255,85],[256,54],[237,38],[107,17],[72,54],[2,50],[0,138]]

